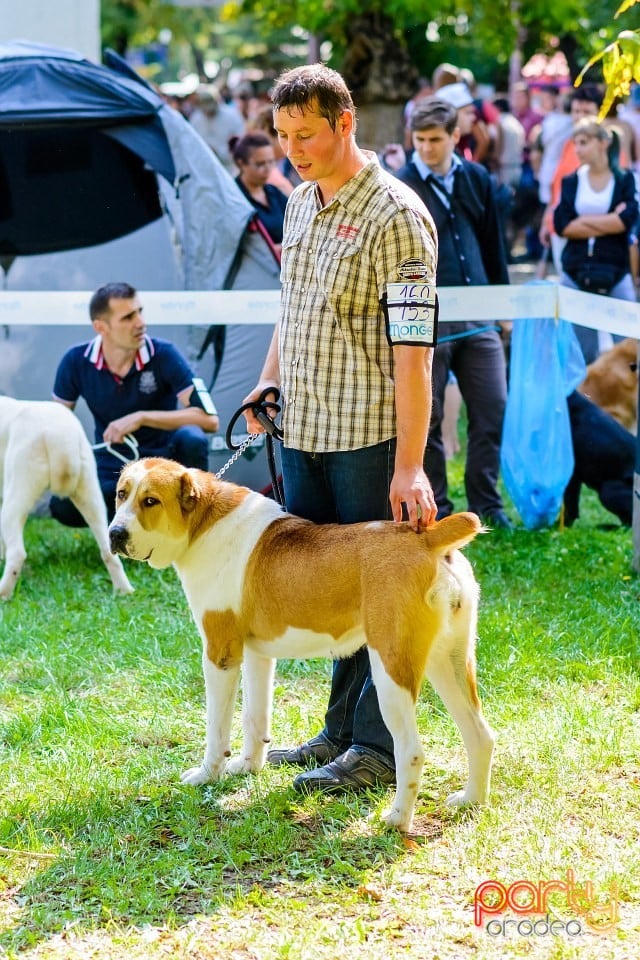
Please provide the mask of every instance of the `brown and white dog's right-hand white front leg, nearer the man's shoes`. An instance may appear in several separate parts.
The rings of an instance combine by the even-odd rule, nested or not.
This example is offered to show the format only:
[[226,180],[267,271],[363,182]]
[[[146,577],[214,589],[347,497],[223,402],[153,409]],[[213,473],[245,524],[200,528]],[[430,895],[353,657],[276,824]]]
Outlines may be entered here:
[[271,740],[271,705],[276,661],[245,647],[242,663],[242,753],[227,764],[229,773],[262,770]]

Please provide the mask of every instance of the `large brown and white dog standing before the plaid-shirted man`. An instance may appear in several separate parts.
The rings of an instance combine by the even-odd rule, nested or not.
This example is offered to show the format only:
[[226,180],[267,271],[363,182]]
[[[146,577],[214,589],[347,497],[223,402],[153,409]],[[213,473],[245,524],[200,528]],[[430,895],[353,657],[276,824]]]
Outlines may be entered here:
[[[424,752],[416,700],[426,675],[462,734],[469,761],[452,805],[489,792],[493,735],[476,689],[478,587],[458,548],[481,529],[472,513],[416,534],[392,522],[317,525],[259,493],[171,460],[126,466],[112,550],[173,564],[203,642],[204,760],[183,782],[260,770],[270,741],[278,657],[346,657],[367,645],[394,741],[397,792],[387,823],[409,830]],[[230,757],[243,668],[244,744]]]

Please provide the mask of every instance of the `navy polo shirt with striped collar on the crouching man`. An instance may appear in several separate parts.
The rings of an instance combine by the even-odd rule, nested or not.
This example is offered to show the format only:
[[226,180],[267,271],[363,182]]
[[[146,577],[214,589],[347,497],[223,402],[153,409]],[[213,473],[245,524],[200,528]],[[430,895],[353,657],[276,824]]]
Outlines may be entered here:
[[[175,410],[178,394],[192,386],[194,374],[182,354],[166,340],[145,337],[135,361],[124,377],[113,374],[102,354],[102,340],[96,337],[89,343],[71,347],[64,354],[53,387],[53,395],[65,403],[76,403],[79,397],[86,402],[95,421],[95,443],[102,443],[104,431],[112,420],[118,420],[136,410]],[[140,456],[157,456],[166,448],[169,434],[155,427],[140,427],[136,431]],[[127,446],[116,444],[115,449],[130,458]],[[96,460],[114,465],[114,458],[104,451],[96,451]],[[115,461],[118,468],[120,461]]]

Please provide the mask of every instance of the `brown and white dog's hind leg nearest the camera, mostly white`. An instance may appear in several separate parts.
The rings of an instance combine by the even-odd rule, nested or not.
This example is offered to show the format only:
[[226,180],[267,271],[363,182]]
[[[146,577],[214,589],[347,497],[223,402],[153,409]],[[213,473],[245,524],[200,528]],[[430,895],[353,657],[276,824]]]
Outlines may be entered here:
[[380,713],[393,737],[396,761],[396,794],[383,820],[391,827],[407,833],[411,829],[424,750],[416,723],[416,704],[406,687],[401,687],[387,673],[380,654],[369,647],[371,675],[378,694]]

